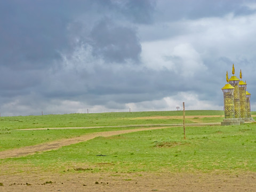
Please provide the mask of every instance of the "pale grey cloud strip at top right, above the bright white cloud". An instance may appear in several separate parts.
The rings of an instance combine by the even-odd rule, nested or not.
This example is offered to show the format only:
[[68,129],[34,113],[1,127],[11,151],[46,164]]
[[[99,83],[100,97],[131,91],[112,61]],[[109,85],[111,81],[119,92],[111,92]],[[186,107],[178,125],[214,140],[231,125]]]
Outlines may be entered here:
[[[161,21],[177,21],[182,19],[198,19],[207,17],[223,17],[226,14],[234,13],[235,15],[247,15],[255,13],[255,10],[250,10],[243,3],[253,1],[169,1],[164,0],[158,2],[157,20]],[[161,12],[160,12],[161,10]]]

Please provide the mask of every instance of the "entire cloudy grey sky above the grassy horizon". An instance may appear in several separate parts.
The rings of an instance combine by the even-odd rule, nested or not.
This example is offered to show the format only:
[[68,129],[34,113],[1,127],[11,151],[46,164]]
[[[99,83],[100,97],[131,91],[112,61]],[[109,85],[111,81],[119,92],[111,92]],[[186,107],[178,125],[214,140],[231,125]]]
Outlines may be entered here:
[[0,0],[1,116],[256,110],[256,1]]

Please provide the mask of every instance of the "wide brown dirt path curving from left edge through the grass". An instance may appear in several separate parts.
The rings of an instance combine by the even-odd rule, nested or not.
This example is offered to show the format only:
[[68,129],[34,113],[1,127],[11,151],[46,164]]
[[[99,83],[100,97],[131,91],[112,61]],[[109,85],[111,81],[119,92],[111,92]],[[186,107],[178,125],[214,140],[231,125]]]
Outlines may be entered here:
[[[132,129],[132,130],[119,130],[119,131],[106,131],[106,132],[97,132],[97,133],[90,133],[86,135],[82,135],[80,137],[69,138],[69,139],[61,139],[57,141],[52,141],[48,143],[42,143],[35,146],[27,146],[13,150],[5,150],[0,152],[0,159],[3,158],[10,158],[10,157],[19,157],[19,156],[26,156],[29,154],[35,154],[38,151],[47,151],[52,149],[58,149],[62,146],[68,146],[74,143],[87,141],[96,137],[109,137],[118,134],[124,133],[131,133],[137,131],[146,131],[146,130],[155,130],[155,129],[165,129],[169,126],[157,126],[157,127],[148,127],[148,128],[141,128],[141,129]],[[70,128],[69,128],[70,129]],[[76,127],[73,127],[76,129]]]

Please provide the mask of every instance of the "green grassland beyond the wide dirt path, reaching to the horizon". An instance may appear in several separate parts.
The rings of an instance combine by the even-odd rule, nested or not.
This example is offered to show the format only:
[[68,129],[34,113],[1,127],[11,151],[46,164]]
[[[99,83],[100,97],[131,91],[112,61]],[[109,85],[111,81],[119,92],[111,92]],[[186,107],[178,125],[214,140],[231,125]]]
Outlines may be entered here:
[[[194,116],[221,116],[223,111],[187,111],[186,115]],[[180,118],[173,118],[179,116]],[[220,122],[223,117],[192,117],[186,123]],[[155,117],[155,118],[150,118]],[[110,130],[134,129],[130,125],[164,125],[182,123],[182,111],[150,111],[136,113],[101,113],[101,114],[68,114],[43,116],[15,116],[0,118],[0,151],[36,145],[53,140],[77,137],[79,135]],[[90,126],[117,126],[99,129],[70,129],[70,130],[39,130],[30,132],[19,129],[35,129],[42,127],[90,127]]]

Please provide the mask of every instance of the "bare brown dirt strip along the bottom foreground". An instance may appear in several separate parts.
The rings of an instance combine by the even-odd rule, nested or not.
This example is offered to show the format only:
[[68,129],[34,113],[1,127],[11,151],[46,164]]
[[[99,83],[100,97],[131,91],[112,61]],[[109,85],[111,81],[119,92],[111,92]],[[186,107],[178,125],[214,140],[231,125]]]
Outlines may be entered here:
[[0,191],[255,191],[256,173],[19,173]]

